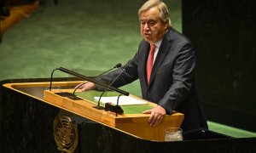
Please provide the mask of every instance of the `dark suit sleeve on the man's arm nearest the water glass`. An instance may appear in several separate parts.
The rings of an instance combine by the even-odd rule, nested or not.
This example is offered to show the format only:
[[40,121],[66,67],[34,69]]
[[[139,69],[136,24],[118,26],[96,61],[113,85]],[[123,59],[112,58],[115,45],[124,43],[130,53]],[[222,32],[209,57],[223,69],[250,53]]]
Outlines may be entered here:
[[191,92],[195,80],[195,53],[190,42],[179,44],[177,56],[173,61],[172,85],[160,99],[158,105],[167,113],[172,113]]

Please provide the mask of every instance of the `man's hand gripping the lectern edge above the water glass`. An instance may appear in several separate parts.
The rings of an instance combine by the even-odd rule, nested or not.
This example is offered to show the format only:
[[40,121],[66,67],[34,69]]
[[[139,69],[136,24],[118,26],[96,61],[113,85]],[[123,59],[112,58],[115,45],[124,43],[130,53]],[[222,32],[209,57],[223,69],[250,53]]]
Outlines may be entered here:
[[151,116],[148,119],[148,122],[151,127],[158,126],[160,122],[164,119],[164,116],[166,115],[166,110],[160,106],[157,105],[151,110],[143,111],[143,114],[151,114]]

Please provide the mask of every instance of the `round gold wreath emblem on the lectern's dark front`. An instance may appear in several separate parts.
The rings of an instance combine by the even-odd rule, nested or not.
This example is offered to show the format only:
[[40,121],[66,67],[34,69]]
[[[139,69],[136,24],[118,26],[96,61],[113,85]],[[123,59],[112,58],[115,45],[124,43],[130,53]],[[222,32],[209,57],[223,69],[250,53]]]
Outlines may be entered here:
[[54,121],[54,136],[58,150],[73,152],[79,141],[78,125],[73,124],[68,116],[56,116]]

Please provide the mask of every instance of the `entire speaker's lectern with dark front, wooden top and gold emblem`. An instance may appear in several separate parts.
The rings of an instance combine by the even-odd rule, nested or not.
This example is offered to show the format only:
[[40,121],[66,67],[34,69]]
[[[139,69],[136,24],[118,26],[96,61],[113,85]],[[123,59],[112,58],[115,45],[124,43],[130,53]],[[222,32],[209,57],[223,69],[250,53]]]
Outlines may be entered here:
[[115,116],[92,107],[93,97],[101,93],[78,91],[81,100],[55,94],[73,92],[82,82],[77,78],[55,81],[50,92],[49,78],[0,82],[2,152],[255,152],[255,138],[230,138],[207,129],[184,132],[183,141],[164,142],[164,129],[179,127],[182,114],[166,116],[160,126],[149,127],[149,115],[141,112],[154,106],[150,102],[122,106],[124,114]]

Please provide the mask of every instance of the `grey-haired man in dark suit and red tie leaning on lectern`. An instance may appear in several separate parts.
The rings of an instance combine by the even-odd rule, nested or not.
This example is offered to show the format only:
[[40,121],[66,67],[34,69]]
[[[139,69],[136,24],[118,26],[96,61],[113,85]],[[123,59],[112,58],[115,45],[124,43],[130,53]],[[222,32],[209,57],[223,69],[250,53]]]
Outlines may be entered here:
[[[149,0],[138,14],[143,41],[137,54],[124,65],[124,74],[112,86],[119,88],[139,79],[143,99],[157,104],[143,111],[151,114],[148,122],[153,127],[159,125],[166,114],[178,111],[184,114],[181,126],[184,131],[207,128],[195,90],[195,52],[191,42],[172,28],[165,3]],[[99,79],[113,81],[119,74],[120,70],[116,70]],[[94,87],[89,82],[80,88]]]

